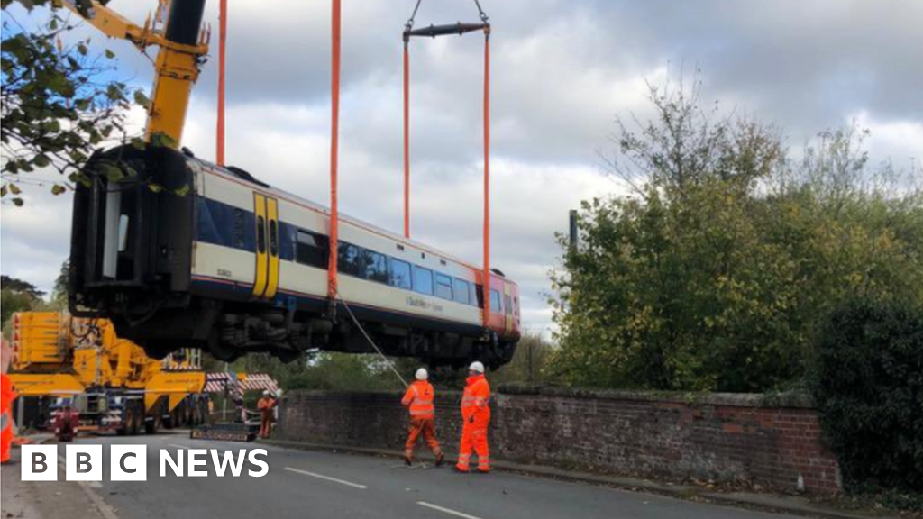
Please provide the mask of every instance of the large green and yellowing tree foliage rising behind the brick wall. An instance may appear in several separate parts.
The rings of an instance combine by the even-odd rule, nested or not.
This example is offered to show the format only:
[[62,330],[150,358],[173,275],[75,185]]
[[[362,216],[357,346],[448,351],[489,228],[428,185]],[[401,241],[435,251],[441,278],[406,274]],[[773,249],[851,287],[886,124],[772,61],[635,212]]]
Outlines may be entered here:
[[[551,273],[565,383],[762,392],[802,383],[818,323],[853,298],[923,302],[923,193],[872,171],[853,128],[792,165],[772,127],[714,123],[698,94],[652,90],[620,126],[631,196],[582,205]],[[625,165],[628,164],[628,165]],[[876,176],[878,173],[881,175]]]

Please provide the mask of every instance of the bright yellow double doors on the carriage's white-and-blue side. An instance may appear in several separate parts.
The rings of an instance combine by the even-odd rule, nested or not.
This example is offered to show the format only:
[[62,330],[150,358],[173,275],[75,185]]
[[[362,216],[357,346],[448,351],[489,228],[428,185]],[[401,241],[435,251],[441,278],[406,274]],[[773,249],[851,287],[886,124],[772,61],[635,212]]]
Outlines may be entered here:
[[257,272],[253,296],[271,299],[279,289],[279,201],[254,193],[253,206],[257,220]]

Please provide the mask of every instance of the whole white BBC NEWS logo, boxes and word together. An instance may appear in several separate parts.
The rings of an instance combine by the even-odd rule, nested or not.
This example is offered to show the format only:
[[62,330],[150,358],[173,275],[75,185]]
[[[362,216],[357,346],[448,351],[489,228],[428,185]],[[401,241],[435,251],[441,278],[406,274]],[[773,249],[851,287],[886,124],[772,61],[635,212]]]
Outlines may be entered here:
[[[172,455],[159,449],[158,475],[167,477],[207,477],[211,462],[215,474],[224,477],[264,477],[270,472],[266,449],[239,449],[220,452],[218,449],[188,449]],[[21,476],[23,481],[58,480],[57,445],[23,445]],[[184,463],[185,459],[185,463]],[[66,445],[66,481],[102,481],[102,445]],[[248,465],[248,466],[246,466]],[[244,470],[246,466],[246,471]],[[256,470],[255,470],[256,469]],[[147,481],[147,445],[110,445],[109,479],[111,481]]]

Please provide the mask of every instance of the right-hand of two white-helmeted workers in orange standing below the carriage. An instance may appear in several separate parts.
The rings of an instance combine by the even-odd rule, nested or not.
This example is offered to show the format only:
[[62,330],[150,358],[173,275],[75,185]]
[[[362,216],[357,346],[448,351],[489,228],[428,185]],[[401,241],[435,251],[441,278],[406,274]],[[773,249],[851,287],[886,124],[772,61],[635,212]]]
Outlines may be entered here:
[[477,453],[478,472],[490,472],[487,447],[487,424],[490,423],[490,384],[484,377],[484,365],[473,362],[468,368],[467,385],[462,395],[462,446],[459,447],[459,472],[469,472],[472,449]]

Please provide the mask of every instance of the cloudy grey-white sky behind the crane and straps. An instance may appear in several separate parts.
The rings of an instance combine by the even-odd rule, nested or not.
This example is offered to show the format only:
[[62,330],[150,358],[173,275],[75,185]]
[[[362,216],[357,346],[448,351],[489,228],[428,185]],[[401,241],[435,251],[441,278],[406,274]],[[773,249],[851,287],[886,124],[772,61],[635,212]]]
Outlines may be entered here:
[[[493,261],[521,284],[525,324],[547,331],[557,231],[581,199],[616,193],[597,151],[616,115],[648,114],[645,81],[701,69],[704,97],[785,129],[800,147],[856,120],[875,160],[923,158],[919,0],[481,0],[491,17]],[[154,2],[110,6],[142,21]],[[217,28],[217,0],[206,19]],[[330,2],[230,0],[228,162],[307,199],[329,199]],[[341,210],[402,229],[402,26],[414,0],[343,6]],[[424,0],[417,25],[476,21],[469,0]],[[123,78],[151,66],[106,42]],[[217,34],[217,32],[215,31]],[[214,38],[217,42],[217,38]],[[213,54],[217,47],[213,46]],[[477,35],[414,41],[413,235],[480,259],[481,81]],[[183,144],[214,157],[216,60]],[[143,116],[134,117],[138,126]],[[50,289],[66,258],[70,200],[27,190],[2,207],[2,271]]]

